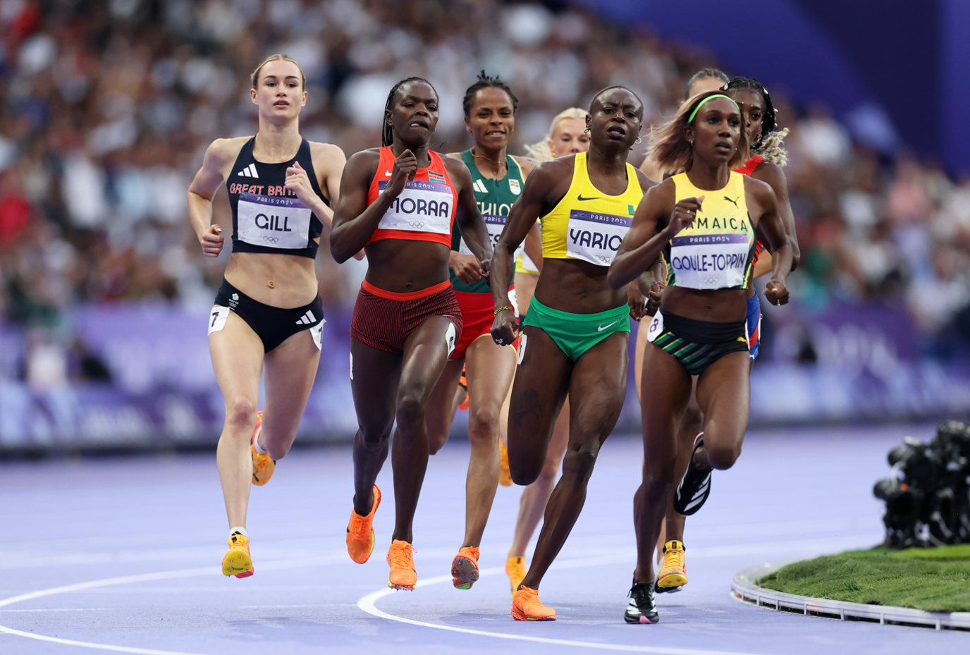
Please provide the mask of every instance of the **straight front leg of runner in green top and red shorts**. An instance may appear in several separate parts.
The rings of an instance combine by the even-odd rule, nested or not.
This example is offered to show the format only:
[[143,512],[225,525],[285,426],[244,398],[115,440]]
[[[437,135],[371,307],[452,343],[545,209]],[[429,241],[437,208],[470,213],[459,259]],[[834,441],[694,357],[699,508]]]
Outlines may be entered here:
[[466,351],[469,378],[471,458],[465,486],[464,546],[478,546],[499,486],[499,420],[512,384],[518,355],[491,336],[476,339]]

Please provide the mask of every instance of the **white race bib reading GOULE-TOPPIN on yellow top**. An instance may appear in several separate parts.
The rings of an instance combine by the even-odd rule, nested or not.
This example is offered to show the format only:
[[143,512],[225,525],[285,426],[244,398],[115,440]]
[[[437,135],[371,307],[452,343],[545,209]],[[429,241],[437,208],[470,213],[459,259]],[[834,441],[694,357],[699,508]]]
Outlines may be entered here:
[[751,244],[746,234],[701,234],[670,240],[677,286],[727,289],[744,283]]

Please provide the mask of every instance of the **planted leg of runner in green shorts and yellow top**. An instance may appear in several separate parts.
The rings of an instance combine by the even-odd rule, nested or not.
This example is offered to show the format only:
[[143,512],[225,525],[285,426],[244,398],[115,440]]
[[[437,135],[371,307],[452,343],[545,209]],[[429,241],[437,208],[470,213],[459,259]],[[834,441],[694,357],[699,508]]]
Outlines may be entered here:
[[522,580],[527,587],[538,589],[586,502],[586,485],[599,447],[616,426],[626,398],[629,341],[630,333],[616,332],[583,353],[573,366],[563,475],[546,505],[532,566]]

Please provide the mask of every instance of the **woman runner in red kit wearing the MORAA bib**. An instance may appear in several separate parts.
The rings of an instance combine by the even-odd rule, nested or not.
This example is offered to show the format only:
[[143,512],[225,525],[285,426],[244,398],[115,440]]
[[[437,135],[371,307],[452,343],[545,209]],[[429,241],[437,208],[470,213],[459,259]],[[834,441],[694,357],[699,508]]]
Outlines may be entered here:
[[411,524],[428,466],[428,397],[462,333],[462,311],[448,280],[453,223],[488,278],[492,245],[475,205],[469,169],[428,146],[437,124],[430,82],[398,82],[384,108],[382,147],[347,161],[330,251],[338,262],[366,246],[368,272],[350,326],[350,384],[359,429],[354,437],[354,502],[347,552],[370,558],[374,484],[394,436],[396,517],[388,585],[413,589]]

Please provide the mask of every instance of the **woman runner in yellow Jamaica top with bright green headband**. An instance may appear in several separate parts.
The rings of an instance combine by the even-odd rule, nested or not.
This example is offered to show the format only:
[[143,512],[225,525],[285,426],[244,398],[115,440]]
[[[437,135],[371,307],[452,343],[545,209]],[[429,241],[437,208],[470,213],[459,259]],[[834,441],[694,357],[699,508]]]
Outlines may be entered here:
[[727,95],[701,93],[685,103],[660,130],[651,156],[664,170],[686,173],[644,196],[610,267],[608,281],[617,288],[640,276],[662,250],[670,265],[670,283],[649,327],[654,347],[647,348],[643,362],[642,385],[649,383],[650,393],[641,404],[644,467],[634,498],[638,557],[625,614],[629,623],[659,619],[651,555],[674,481],[676,432],[691,398],[692,376],[698,376],[705,425],[676,488],[674,508],[681,514],[699,509],[710,493],[711,470],[729,469],[741,451],[749,402],[745,296],[757,238],[777,252],[765,295],[773,304],[788,302],[792,246],[774,192],[731,171],[747,154],[740,110]]

